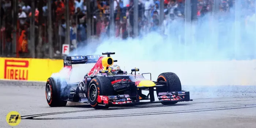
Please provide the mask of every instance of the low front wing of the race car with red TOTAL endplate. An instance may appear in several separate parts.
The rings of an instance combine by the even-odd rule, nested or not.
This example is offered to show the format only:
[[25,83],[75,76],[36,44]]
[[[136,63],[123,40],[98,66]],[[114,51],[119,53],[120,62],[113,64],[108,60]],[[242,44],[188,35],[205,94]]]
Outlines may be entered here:
[[160,102],[181,102],[192,101],[189,96],[189,91],[173,91],[166,93],[159,93],[159,101],[140,102],[136,97],[130,97],[129,95],[111,95],[102,96],[99,95],[97,101],[99,105],[126,105],[126,104],[144,104],[144,103],[160,103]]

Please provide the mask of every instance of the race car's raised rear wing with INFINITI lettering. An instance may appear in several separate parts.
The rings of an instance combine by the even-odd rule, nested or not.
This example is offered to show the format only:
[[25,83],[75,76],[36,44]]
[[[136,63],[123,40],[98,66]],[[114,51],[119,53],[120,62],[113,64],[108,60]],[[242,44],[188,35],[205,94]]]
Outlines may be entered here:
[[86,55],[86,56],[67,56],[63,59],[64,67],[72,66],[72,64],[91,64],[96,63],[102,55]]

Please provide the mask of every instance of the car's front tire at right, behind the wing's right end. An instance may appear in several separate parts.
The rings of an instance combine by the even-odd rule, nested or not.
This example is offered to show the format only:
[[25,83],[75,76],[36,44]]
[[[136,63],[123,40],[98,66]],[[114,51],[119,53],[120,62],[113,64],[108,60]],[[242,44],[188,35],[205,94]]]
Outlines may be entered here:
[[[158,93],[161,92],[171,92],[171,91],[181,91],[181,82],[178,76],[173,72],[165,72],[158,76],[157,82],[159,81],[167,82],[167,87],[158,87],[157,89],[157,96]],[[177,102],[162,102],[163,105],[174,105]]]

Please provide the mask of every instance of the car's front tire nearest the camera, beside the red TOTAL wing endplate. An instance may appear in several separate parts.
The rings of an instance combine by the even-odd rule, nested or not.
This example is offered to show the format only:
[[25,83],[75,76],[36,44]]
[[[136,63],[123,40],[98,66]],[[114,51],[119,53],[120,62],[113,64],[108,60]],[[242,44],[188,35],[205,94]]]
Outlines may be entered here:
[[107,109],[108,105],[102,106],[97,102],[98,95],[113,95],[113,86],[107,77],[93,78],[88,86],[88,100],[95,109]]

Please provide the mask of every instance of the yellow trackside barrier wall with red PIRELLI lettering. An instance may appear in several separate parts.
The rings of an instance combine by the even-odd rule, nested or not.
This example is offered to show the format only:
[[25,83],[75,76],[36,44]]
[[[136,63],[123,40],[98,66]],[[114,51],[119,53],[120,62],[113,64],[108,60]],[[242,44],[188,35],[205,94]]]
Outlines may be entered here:
[[59,72],[63,60],[0,58],[0,79],[45,82],[52,73]]

